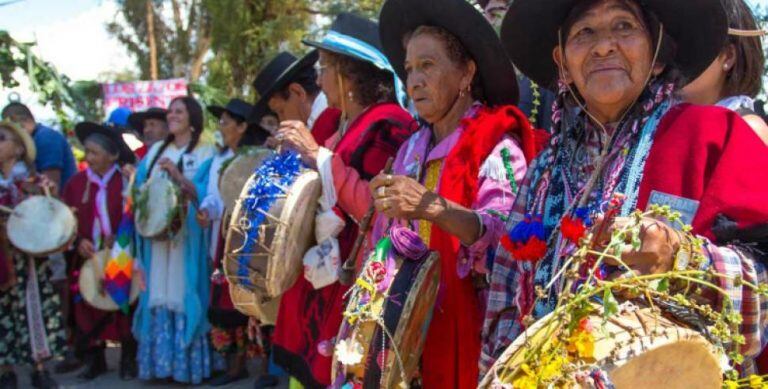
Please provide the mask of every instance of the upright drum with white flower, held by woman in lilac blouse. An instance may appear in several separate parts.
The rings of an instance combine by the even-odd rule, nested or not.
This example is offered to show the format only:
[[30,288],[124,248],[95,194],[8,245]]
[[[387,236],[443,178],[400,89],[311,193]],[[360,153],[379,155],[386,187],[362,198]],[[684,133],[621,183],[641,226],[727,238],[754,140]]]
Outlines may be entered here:
[[[391,266],[376,262],[374,254],[350,289],[331,365],[334,387],[409,387],[419,370],[440,286],[440,259],[437,252],[421,260],[391,255],[394,275],[386,289],[377,280],[390,275],[376,274]],[[362,358],[345,360],[339,347],[357,349]]]

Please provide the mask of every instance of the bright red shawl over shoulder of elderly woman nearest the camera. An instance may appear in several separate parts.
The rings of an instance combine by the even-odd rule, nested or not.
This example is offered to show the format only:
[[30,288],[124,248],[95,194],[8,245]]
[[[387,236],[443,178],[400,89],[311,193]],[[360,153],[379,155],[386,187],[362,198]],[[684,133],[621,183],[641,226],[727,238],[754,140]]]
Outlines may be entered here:
[[712,224],[720,213],[741,227],[765,223],[768,147],[736,112],[678,105],[656,130],[639,209],[645,209],[653,190],[699,201],[694,232],[712,240]]

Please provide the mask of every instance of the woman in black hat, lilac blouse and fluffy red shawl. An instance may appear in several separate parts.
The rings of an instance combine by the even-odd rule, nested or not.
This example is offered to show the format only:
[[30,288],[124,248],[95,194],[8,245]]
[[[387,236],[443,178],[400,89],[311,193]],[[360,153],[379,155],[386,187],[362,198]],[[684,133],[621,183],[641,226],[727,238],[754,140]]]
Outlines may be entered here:
[[[534,157],[536,135],[509,105],[517,102],[517,83],[501,42],[469,3],[389,0],[380,31],[424,124],[400,148],[393,173],[378,175],[357,197],[375,200],[371,245],[390,220],[405,221],[440,254],[422,382],[427,388],[472,387],[487,251],[504,231],[501,215],[512,207],[515,183]],[[370,201],[359,203],[358,212]]]

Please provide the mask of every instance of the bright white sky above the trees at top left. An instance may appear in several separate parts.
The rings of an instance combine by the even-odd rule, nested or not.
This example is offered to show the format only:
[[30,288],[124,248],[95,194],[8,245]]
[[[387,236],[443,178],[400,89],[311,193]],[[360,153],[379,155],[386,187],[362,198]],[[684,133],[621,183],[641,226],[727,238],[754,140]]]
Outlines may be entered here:
[[[747,1],[768,7],[768,0]],[[116,12],[114,0],[21,0],[0,7],[0,29],[17,41],[37,42],[35,52],[70,79],[92,80],[107,71],[135,70],[126,50],[106,31]],[[37,105],[34,94],[22,85],[13,91],[0,87],[0,106],[10,92]],[[37,108],[43,111],[38,116],[53,118],[52,111]]]

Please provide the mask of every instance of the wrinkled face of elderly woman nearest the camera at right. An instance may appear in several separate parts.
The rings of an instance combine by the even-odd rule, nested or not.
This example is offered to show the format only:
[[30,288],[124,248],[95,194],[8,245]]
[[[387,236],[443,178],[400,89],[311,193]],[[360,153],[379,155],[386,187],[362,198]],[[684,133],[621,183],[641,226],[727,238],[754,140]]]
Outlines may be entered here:
[[[597,3],[581,15],[570,31],[563,31],[563,79],[576,86],[590,110],[626,109],[645,88],[651,72],[651,35],[640,8],[618,0]],[[663,67],[657,65],[654,74]]]

